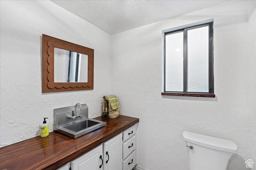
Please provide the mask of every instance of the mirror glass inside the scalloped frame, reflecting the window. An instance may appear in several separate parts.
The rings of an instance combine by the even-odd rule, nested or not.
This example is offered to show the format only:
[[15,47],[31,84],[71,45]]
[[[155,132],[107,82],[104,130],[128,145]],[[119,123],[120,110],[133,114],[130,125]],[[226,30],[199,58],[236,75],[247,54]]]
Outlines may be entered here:
[[87,82],[88,55],[54,47],[54,82]]

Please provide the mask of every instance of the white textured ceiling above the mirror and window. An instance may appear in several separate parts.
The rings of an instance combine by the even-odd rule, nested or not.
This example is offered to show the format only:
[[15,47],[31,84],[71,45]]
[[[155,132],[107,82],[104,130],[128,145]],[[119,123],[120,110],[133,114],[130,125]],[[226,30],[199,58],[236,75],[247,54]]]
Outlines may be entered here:
[[224,0],[51,1],[110,34],[227,2]]

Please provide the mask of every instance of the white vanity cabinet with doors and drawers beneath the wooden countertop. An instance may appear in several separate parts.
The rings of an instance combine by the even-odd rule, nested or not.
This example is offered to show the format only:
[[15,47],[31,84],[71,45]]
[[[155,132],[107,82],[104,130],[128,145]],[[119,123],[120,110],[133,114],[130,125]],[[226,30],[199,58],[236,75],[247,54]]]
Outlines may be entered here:
[[57,170],[131,170],[136,165],[136,124]]

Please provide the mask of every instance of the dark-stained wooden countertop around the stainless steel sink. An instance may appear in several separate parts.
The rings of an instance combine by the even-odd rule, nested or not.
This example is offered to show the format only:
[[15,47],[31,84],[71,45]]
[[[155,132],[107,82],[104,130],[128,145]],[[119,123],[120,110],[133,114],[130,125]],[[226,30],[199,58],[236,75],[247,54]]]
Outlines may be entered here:
[[0,148],[1,170],[57,169],[139,122],[124,115],[94,119],[106,122],[106,126],[76,139],[50,132],[45,138],[36,136]]

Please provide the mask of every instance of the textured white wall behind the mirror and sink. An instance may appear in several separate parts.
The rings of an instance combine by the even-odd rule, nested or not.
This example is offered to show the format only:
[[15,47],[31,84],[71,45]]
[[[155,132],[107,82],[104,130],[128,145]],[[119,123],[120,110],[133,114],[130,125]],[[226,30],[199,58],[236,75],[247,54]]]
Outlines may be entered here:
[[[53,109],[87,103],[89,117],[101,115],[111,92],[111,35],[51,1],[0,1],[1,146],[39,135]],[[42,34],[94,49],[94,90],[41,93]],[[104,83],[103,83],[104,82]]]

